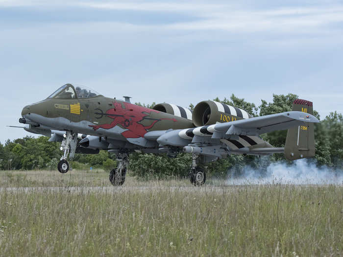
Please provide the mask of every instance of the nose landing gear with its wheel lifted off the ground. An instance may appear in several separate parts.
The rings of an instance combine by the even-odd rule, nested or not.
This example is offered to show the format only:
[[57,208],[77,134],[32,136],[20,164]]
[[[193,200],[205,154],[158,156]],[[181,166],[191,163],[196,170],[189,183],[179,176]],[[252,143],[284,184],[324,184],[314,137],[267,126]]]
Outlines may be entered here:
[[68,155],[70,159],[74,158],[76,144],[77,144],[77,134],[71,131],[67,131],[67,133],[64,135],[64,140],[61,143],[61,151],[64,150],[64,154],[57,165],[57,169],[59,172],[67,173],[69,168],[71,168],[71,166],[69,165],[67,161],[67,158],[68,158]]

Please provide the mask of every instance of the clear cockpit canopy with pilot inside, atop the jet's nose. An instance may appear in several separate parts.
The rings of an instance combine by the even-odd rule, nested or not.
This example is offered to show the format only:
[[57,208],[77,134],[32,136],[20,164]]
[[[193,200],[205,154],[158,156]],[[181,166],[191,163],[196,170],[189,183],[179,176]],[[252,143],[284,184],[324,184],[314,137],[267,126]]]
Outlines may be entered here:
[[54,93],[52,93],[48,98],[60,98],[60,99],[81,99],[81,98],[91,98],[99,95],[98,92],[93,89],[87,88],[82,85],[65,84]]

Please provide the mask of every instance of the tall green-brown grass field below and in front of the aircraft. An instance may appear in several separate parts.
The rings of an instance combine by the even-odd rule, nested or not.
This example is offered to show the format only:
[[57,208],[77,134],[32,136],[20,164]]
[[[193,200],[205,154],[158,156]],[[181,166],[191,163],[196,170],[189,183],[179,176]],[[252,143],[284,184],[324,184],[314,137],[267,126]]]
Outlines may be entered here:
[[343,256],[342,186],[189,185],[0,171],[0,256]]

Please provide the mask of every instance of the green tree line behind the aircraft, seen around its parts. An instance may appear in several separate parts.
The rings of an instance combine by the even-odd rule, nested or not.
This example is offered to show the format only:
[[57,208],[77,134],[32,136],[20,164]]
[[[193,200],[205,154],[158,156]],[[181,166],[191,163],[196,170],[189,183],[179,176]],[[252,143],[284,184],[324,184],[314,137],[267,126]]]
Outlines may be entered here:
[[[246,102],[234,94],[230,98],[214,100],[246,110],[254,117],[287,112],[292,110],[297,95],[273,94],[273,101],[261,100],[261,104]],[[140,103],[138,103],[140,104]],[[147,105],[150,106],[150,105]],[[190,104],[193,108],[193,104]],[[314,115],[319,117],[318,112]],[[287,131],[275,131],[261,135],[274,147],[284,147]],[[56,169],[61,156],[60,143],[48,142],[47,137],[25,137],[13,141],[7,140],[4,145],[0,143],[0,169]],[[336,111],[320,120],[315,125],[316,156],[312,161],[318,166],[326,165],[334,170],[343,169],[343,116]],[[73,168],[89,169],[103,168],[110,170],[116,166],[115,154],[100,151],[98,155],[76,154],[72,162]],[[286,161],[283,154],[274,154],[263,161],[258,156],[231,155],[217,162],[207,164],[210,173],[226,176],[227,173],[239,175],[246,165],[264,169],[275,161]],[[165,154],[158,156],[152,154],[130,154],[130,171],[132,175],[140,178],[168,178],[187,176],[191,165],[189,154],[179,154],[176,158],[169,158]]]

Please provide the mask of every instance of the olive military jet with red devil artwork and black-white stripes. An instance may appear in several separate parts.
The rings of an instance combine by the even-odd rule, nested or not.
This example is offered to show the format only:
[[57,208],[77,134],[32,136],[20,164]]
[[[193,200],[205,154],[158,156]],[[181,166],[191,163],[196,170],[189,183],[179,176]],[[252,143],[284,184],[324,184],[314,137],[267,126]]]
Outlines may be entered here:
[[[75,152],[94,154],[108,150],[117,155],[118,166],[109,179],[123,185],[128,154],[191,153],[190,180],[195,186],[206,180],[204,165],[230,154],[270,155],[284,153],[288,160],[315,155],[312,102],[296,99],[293,110],[252,117],[245,110],[216,101],[199,102],[194,110],[160,103],[151,109],[105,97],[84,86],[66,84],[48,98],[27,105],[20,123],[25,130],[61,141],[63,155],[58,171],[70,169]],[[259,135],[288,129],[285,147],[273,147]]]

